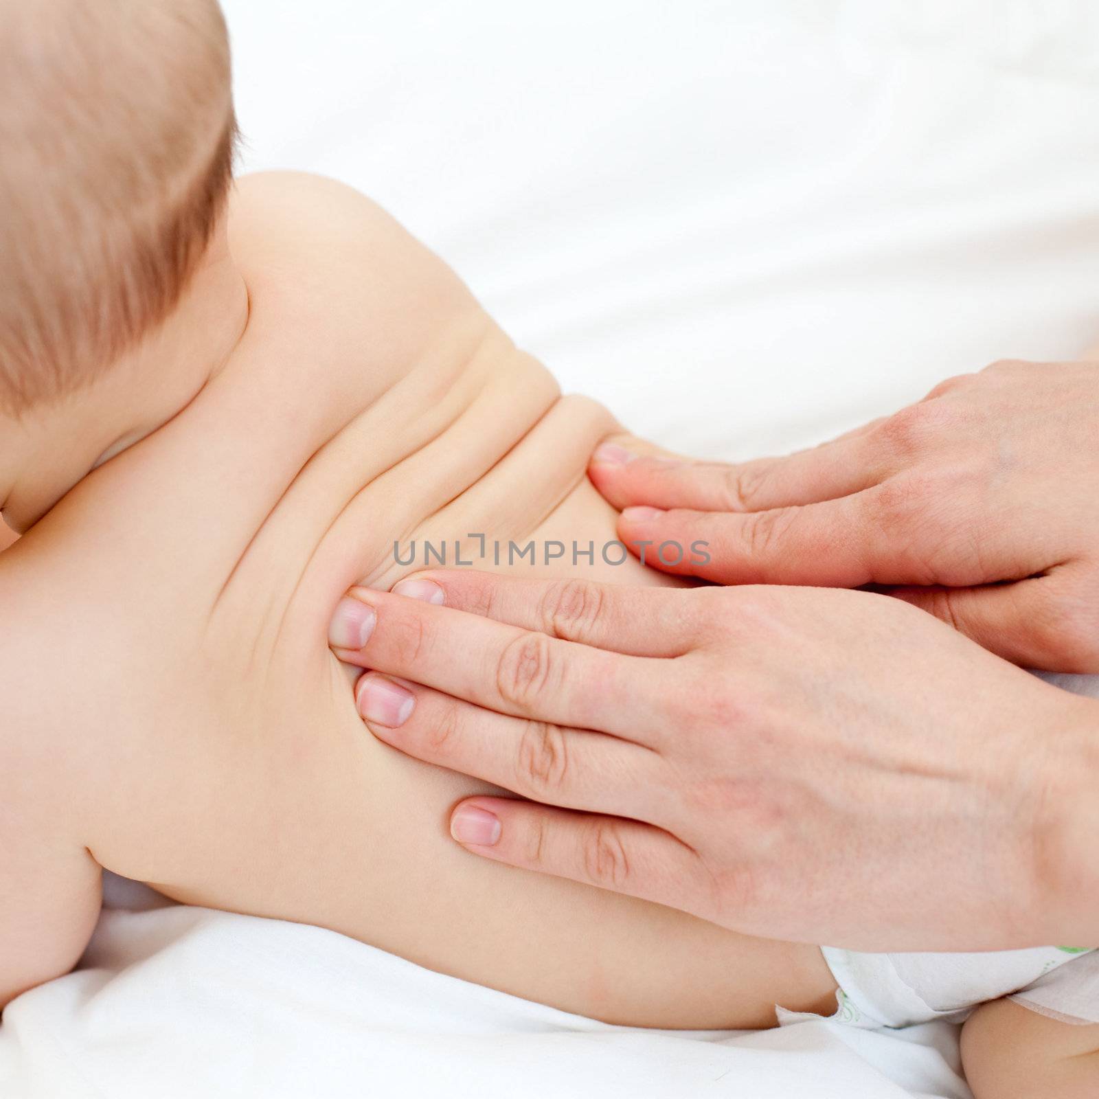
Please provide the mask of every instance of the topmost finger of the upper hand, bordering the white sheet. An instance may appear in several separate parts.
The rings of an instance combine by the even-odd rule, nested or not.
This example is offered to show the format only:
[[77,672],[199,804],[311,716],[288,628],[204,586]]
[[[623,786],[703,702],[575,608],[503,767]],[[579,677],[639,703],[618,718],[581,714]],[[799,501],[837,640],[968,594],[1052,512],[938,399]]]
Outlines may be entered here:
[[588,476],[615,508],[766,511],[850,496],[888,475],[869,432],[809,451],[733,465],[635,457],[617,446],[592,455]]

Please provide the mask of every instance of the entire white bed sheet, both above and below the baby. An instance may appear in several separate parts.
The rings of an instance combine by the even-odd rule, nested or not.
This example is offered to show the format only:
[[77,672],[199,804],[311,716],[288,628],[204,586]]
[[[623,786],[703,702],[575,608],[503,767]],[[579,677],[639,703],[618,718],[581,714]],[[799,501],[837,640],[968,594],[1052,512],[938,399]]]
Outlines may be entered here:
[[[229,0],[245,166],[364,189],[567,389],[736,457],[1099,340],[1088,0]],[[106,911],[0,1096],[965,1099],[955,1031],[603,1026],[318,929]]]

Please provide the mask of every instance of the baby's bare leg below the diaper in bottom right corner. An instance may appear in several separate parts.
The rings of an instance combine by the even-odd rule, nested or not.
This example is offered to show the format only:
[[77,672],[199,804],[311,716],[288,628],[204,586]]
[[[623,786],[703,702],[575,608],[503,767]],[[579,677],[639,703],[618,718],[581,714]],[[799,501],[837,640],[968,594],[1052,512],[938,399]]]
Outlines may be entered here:
[[992,1000],[966,1020],[962,1062],[976,1099],[1095,1099],[1099,1024],[1063,1023]]

